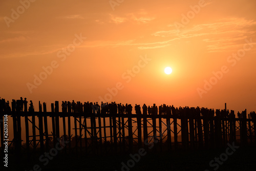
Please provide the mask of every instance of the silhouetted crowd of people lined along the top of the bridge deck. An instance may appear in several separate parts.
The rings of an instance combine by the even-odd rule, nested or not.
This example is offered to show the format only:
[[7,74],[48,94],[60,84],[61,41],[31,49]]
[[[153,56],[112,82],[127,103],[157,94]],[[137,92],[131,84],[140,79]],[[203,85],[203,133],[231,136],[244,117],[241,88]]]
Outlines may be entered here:
[[[20,97],[20,99],[15,100],[12,99],[11,105],[10,102],[5,99],[0,98],[0,112],[34,112],[34,106],[32,100],[30,100],[29,103],[29,109],[27,108],[27,98]],[[86,113],[86,114],[132,114],[133,106],[131,104],[121,104],[116,102],[111,103],[103,103],[98,104],[98,102],[75,102],[72,100],[70,101],[62,101],[61,103],[61,110],[63,113],[72,112],[72,113]],[[222,117],[222,118],[228,118],[233,117],[234,113],[233,111],[229,112],[229,110],[213,110],[213,109],[207,109],[207,108],[189,108],[188,106],[185,106],[184,108],[175,108],[173,105],[166,105],[162,104],[160,106],[157,106],[156,104],[153,104],[153,106],[143,104],[142,108],[138,104],[135,104],[135,113],[137,115],[173,115],[176,117],[187,115],[188,117],[197,117],[197,115],[200,115],[202,117]],[[142,110],[142,113],[141,113]],[[255,112],[250,113],[251,118],[256,118]],[[245,113],[239,113],[237,115],[238,118],[246,117]]]

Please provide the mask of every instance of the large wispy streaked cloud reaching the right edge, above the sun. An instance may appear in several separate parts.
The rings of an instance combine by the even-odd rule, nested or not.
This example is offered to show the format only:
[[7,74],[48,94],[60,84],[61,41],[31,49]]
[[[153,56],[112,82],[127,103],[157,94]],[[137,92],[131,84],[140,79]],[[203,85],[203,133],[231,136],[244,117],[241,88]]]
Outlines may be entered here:
[[[245,18],[223,18],[215,23],[194,25],[191,28],[181,30],[179,33],[174,25],[168,25],[170,29],[157,31],[153,36],[165,38],[165,42],[179,39],[202,37],[206,43],[208,52],[232,51],[242,45],[241,41],[256,33],[256,22]],[[254,29],[253,29],[254,27]],[[166,40],[166,38],[172,39]]]

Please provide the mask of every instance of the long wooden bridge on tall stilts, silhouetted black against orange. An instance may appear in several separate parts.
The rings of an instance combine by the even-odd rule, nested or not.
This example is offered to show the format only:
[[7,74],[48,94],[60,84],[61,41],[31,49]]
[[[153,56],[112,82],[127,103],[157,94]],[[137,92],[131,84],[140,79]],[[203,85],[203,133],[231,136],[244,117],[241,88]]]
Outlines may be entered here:
[[[41,105],[39,101],[39,112],[31,108],[27,111],[27,103],[24,103],[24,111],[15,106],[12,110],[2,106],[0,119],[4,120],[4,115],[8,115],[9,125],[13,123],[13,137],[8,137],[8,153],[15,156],[49,152],[59,143],[63,147],[61,153],[67,154],[135,153],[141,147],[151,152],[221,148],[228,142],[255,145],[255,112],[247,115],[245,110],[236,117],[234,111],[229,113],[226,109],[175,109],[172,106],[167,111],[158,111],[154,105],[151,114],[144,107],[142,113],[136,107],[137,114],[132,114],[132,108],[127,108],[118,112],[117,109],[100,111],[100,108],[95,110],[89,105],[89,108],[83,106],[74,110],[68,102],[67,108],[59,112],[59,103],[55,101],[55,104],[51,103],[51,112],[47,112],[46,103]],[[7,138],[4,137],[4,122],[0,124],[3,153]],[[22,139],[22,129],[26,132],[25,140]],[[67,144],[63,145],[63,142]]]

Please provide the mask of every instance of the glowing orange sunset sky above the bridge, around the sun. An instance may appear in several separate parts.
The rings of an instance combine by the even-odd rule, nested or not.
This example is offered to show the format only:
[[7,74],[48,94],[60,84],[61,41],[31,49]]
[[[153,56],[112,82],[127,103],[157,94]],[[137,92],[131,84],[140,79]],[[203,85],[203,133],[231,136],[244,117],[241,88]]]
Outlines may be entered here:
[[21,2],[0,1],[1,98],[256,109],[253,0]]

